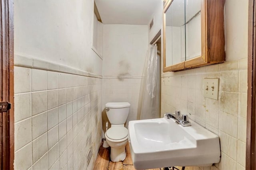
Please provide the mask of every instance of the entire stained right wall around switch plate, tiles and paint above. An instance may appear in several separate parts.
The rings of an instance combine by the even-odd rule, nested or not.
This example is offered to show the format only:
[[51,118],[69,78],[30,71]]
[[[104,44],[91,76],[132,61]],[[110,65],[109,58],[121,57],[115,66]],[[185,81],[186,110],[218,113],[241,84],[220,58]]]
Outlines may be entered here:
[[[180,110],[220,137],[221,161],[211,169],[244,170],[248,0],[226,0],[224,10],[226,63],[162,73],[161,113]],[[203,96],[204,78],[220,78],[218,100]]]

